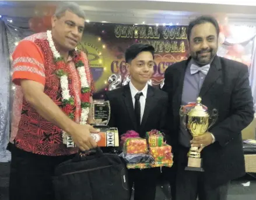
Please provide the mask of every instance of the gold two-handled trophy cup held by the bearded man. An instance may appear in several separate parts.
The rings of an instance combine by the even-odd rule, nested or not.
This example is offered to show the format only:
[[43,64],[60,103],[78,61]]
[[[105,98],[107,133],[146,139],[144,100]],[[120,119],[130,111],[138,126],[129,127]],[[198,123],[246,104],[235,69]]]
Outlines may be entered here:
[[[202,105],[201,101],[202,99],[198,97],[197,103],[190,103],[180,108],[181,123],[185,130],[190,132],[192,137],[203,135],[215,124],[218,118],[218,111],[213,109],[210,116],[208,108]],[[204,172],[201,155],[198,150],[198,147],[190,148],[188,152],[188,166],[185,167],[185,170]]]

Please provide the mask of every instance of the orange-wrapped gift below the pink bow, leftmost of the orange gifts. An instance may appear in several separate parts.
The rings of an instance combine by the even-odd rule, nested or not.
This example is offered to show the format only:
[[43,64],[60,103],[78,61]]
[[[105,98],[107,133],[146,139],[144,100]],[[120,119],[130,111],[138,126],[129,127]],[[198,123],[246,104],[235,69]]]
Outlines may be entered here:
[[125,153],[148,153],[148,145],[146,139],[143,138],[128,138],[124,145]]

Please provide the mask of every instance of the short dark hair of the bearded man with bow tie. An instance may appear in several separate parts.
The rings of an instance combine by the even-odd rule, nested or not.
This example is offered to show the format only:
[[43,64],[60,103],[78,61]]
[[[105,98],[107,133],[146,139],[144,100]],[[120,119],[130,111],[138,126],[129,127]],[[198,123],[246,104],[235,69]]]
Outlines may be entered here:
[[197,17],[196,19],[192,20],[190,24],[188,24],[188,30],[187,30],[188,41],[190,41],[192,28],[198,24],[204,24],[204,23],[212,23],[213,26],[215,26],[216,28],[217,35],[219,36],[220,28],[217,20],[212,16],[204,15],[204,16]]

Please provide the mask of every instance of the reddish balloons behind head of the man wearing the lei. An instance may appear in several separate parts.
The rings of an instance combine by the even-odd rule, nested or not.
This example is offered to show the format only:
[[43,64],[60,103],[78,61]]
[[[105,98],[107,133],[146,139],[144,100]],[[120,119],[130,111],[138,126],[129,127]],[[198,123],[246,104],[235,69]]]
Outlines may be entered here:
[[51,29],[51,17],[54,15],[56,6],[42,6],[35,9],[35,16],[29,19],[29,27],[35,33]]

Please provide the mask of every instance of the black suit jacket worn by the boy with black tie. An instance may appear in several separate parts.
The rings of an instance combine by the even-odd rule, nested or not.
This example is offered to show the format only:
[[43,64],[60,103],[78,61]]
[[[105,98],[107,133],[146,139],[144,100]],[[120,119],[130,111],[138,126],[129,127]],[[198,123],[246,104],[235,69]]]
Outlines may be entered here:
[[134,105],[129,84],[116,90],[106,92],[105,100],[110,101],[111,115],[108,125],[117,127],[118,133],[124,134],[134,130],[145,137],[146,131],[157,129],[166,133],[167,94],[148,85],[145,109],[141,127],[136,127]]

